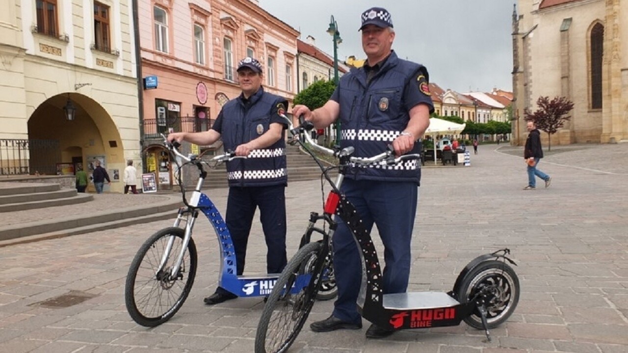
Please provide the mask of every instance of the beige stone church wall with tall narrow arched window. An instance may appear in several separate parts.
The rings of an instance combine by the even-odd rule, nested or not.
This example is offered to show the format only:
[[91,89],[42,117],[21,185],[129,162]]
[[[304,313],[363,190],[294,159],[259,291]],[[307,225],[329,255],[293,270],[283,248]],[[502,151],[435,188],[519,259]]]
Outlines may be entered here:
[[552,143],[628,139],[628,3],[519,0],[518,4],[512,14],[512,141],[525,142],[524,111],[536,110],[539,96],[574,102],[571,121]]

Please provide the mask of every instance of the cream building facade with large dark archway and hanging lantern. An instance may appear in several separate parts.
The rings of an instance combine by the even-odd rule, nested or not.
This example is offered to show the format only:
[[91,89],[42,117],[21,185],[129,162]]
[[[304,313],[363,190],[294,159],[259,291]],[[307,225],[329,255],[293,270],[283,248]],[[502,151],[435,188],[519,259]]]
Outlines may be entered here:
[[0,8],[0,174],[89,174],[100,160],[106,191],[121,191],[126,160],[141,170],[131,0]]

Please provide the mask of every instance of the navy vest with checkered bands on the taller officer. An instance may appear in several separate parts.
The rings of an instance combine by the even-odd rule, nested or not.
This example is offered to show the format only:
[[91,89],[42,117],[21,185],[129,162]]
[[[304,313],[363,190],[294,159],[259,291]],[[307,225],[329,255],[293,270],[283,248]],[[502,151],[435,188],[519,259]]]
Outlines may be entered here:
[[[416,78],[421,65],[401,60],[393,52],[367,84],[364,68],[352,69],[338,85],[340,104],[340,146],[354,146],[356,157],[372,157],[386,147],[408,126],[409,112],[403,102],[404,89]],[[421,143],[414,143],[409,153],[420,153]],[[400,165],[352,168],[347,178],[386,182],[416,182],[421,179],[420,161]]]

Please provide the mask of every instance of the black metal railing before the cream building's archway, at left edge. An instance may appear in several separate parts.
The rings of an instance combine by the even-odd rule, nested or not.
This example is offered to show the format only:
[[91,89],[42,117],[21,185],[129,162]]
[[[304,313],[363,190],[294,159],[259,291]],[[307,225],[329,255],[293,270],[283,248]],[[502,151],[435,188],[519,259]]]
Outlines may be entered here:
[[0,175],[57,174],[58,140],[0,139]]

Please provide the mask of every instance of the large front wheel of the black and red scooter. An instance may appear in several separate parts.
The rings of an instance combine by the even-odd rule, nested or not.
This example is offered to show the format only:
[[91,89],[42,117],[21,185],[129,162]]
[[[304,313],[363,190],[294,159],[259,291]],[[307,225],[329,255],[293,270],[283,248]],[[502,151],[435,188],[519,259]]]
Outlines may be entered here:
[[[320,286],[320,277],[313,271],[317,257],[321,256],[321,247],[318,242],[305,244],[279,275],[257,325],[255,353],[285,352],[295,342]],[[308,273],[310,281],[296,283],[299,275]],[[300,288],[293,288],[295,285]],[[290,288],[298,292],[291,294]]]

